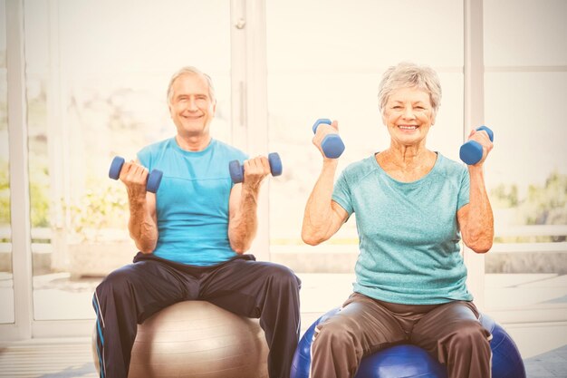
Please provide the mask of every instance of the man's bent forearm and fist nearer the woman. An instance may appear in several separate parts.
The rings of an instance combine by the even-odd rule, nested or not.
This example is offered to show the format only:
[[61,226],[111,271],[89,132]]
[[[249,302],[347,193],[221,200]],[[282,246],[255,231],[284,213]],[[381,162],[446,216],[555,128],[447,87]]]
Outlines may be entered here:
[[257,157],[245,160],[244,168],[244,182],[235,184],[228,203],[228,239],[237,254],[250,249],[256,236],[258,195],[262,181],[270,173],[270,163],[265,157]]

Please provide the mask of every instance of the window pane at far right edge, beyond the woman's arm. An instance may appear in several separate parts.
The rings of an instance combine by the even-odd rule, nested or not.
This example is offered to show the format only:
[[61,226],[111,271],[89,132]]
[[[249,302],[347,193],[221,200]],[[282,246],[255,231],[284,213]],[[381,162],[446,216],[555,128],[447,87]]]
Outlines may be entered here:
[[[567,102],[566,13],[561,0],[484,2],[485,120],[495,131],[485,171],[496,226],[485,305],[508,324],[567,320],[567,129],[557,118]],[[549,325],[540,334],[564,344]]]

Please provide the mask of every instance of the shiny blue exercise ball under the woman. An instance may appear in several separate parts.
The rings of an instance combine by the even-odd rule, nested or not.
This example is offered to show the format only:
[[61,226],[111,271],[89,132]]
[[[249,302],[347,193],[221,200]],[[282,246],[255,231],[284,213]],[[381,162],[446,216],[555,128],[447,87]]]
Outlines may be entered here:
[[[309,378],[311,344],[315,327],[339,312],[334,308],[317,319],[303,334],[293,355],[291,378]],[[493,338],[493,378],[525,378],[524,362],[512,338],[487,315],[481,322]],[[355,378],[447,378],[447,368],[425,350],[411,344],[389,347],[362,358]]]

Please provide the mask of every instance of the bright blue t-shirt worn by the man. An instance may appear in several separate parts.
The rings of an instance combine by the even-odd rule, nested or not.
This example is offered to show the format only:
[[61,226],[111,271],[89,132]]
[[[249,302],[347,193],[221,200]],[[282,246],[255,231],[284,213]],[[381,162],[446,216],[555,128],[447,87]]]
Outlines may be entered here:
[[228,199],[233,187],[228,163],[244,152],[212,140],[205,150],[182,150],[175,138],[138,153],[148,170],[161,170],[156,193],[157,257],[195,266],[215,265],[236,256],[228,240]]

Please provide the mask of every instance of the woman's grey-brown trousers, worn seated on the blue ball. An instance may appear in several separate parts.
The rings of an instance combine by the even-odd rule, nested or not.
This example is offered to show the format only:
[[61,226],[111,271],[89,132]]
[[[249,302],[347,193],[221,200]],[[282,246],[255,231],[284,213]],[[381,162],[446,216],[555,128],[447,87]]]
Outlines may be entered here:
[[447,365],[448,378],[490,378],[492,335],[472,302],[398,305],[354,293],[315,329],[312,378],[354,377],[363,356],[416,344]]

